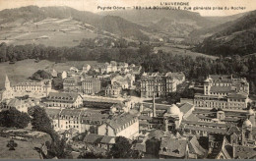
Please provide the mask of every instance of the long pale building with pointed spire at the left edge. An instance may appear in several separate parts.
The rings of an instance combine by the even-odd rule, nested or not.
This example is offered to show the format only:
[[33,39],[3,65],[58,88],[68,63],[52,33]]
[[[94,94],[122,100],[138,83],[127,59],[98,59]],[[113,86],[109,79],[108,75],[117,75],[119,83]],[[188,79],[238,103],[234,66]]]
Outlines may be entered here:
[[29,95],[31,97],[45,97],[51,91],[51,80],[19,82],[11,86],[6,76],[5,89],[1,92],[1,100]]

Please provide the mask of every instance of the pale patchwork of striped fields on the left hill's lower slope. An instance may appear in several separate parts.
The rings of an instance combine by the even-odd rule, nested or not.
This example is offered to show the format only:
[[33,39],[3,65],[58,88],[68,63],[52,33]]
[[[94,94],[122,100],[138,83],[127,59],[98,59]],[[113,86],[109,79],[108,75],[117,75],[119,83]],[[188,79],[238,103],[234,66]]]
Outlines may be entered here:
[[14,45],[44,44],[46,46],[76,46],[83,38],[95,38],[96,31],[70,20],[46,19],[37,23],[0,30],[0,43]]

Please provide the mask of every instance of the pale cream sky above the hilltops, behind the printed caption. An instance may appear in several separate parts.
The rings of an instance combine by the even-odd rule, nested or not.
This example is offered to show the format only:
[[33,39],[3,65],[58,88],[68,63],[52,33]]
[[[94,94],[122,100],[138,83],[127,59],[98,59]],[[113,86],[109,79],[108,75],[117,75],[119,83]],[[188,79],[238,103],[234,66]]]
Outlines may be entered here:
[[[68,6],[80,11],[101,12],[97,6],[160,6],[162,2],[188,2],[191,7],[229,7],[229,10],[198,10],[202,16],[229,16],[256,10],[256,0],[0,0],[0,10],[19,8],[29,5]],[[242,7],[230,10],[231,7]]]

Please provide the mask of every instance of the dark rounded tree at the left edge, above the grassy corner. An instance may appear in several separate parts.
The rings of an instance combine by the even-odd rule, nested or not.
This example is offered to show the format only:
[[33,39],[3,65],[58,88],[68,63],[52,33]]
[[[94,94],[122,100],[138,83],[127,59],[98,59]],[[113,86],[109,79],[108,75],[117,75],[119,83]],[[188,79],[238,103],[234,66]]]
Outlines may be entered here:
[[3,127],[24,129],[30,122],[30,116],[16,108],[0,112],[0,125]]

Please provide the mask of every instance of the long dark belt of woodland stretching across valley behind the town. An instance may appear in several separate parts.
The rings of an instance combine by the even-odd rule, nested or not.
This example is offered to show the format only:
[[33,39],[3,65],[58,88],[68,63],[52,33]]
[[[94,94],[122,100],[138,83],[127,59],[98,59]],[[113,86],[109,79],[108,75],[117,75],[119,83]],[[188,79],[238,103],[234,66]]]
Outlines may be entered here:
[[45,47],[43,45],[0,45],[0,61],[20,61],[24,59],[46,59],[50,61],[98,61],[133,63],[143,67],[142,72],[183,72],[188,80],[204,80],[210,74],[233,74],[245,77],[250,82],[251,94],[256,93],[256,56],[220,57],[217,60],[190,56],[173,55],[159,52],[154,54],[153,47],[140,45],[138,48],[101,48],[88,47]]

